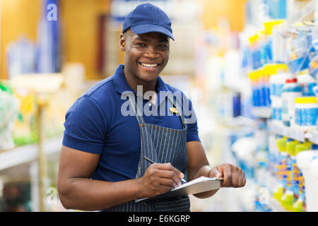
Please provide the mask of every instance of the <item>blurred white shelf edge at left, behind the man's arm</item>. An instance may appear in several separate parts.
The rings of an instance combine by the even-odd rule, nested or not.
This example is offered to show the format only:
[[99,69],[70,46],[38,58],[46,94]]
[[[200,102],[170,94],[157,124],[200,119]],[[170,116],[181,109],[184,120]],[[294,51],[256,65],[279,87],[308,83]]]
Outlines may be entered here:
[[[58,153],[61,150],[61,142],[62,136],[45,139],[43,147],[45,155]],[[37,150],[35,143],[0,152],[0,170],[36,160]]]

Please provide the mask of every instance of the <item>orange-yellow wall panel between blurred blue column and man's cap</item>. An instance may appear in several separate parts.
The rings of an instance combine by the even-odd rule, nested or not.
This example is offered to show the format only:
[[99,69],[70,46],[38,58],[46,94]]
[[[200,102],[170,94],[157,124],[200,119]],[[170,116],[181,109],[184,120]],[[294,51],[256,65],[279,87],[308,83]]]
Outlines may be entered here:
[[98,72],[98,17],[110,11],[110,0],[61,0],[64,62],[80,62],[86,78],[100,79]]

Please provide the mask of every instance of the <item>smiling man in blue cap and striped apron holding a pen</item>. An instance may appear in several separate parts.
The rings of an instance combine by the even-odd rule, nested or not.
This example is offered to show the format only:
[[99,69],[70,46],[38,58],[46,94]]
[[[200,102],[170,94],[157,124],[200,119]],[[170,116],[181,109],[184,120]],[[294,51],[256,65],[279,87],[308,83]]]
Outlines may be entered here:
[[[66,113],[58,175],[65,208],[189,211],[189,196],[135,200],[170,191],[183,178],[223,177],[223,187],[245,186],[240,168],[208,165],[191,102],[183,94],[181,99],[159,95],[177,92],[159,76],[169,59],[170,38],[174,40],[170,19],[160,8],[137,6],[126,16],[120,35],[124,65]],[[143,95],[149,92],[153,95],[147,100]],[[184,106],[192,114],[185,115]],[[164,114],[143,114],[147,107],[163,109]],[[206,198],[216,191],[196,197]]]

